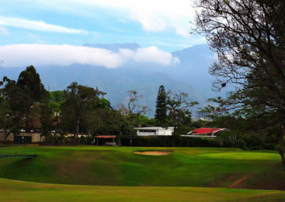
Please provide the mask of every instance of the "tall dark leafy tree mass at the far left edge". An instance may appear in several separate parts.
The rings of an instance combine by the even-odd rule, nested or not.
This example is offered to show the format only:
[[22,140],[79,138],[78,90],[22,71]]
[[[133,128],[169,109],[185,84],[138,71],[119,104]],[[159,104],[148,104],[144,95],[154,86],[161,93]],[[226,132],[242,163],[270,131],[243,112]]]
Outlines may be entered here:
[[36,69],[33,66],[27,67],[20,73],[17,82],[4,77],[3,85],[1,105],[6,107],[1,112],[4,112],[6,117],[4,128],[6,131],[13,131],[14,134],[23,127],[31,129],[31,120],[34,117],[33,105],[41,102],[47,94]]

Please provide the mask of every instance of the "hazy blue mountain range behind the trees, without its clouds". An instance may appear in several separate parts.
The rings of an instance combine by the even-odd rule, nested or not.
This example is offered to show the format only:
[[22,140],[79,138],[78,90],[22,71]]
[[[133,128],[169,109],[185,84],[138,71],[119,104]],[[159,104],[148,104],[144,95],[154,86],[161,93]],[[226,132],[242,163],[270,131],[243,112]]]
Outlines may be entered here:
[[[104,48],[118,52],[120,48],[137,50],[137,43],[92,44],[83,46],[90,48]],[[119,68],[105,68],[100,66],[73,64],[68,66],[37,66],[43,85],[48,90],[63,90],[71,82],[77,81],[81,85],[98,87],[107,92],[105,97],[113,107],[128,100],[128,90],[136,90],[143,95],[140,105],[147,105],[151,110],[147,116],[152,117],[155,112],[155,100],[160,85],[172,92],[187,92],[192,100],[198,101],[197,107],[206,105],[208,97],[222,96],[221,92],[212,90],[212,80],[208,68],[215,54],[207,45],[192,46],[171,53],[180,63],[175,65],[158,65],[154,63],[128,62]],[[33,65],[33,64],[31,64]],[[3,75],[16,80],[23,68],[5,67],[0,70]],[[192,111],[197,110],[197,107]],[[193,113],[195,117],[195,113]]]

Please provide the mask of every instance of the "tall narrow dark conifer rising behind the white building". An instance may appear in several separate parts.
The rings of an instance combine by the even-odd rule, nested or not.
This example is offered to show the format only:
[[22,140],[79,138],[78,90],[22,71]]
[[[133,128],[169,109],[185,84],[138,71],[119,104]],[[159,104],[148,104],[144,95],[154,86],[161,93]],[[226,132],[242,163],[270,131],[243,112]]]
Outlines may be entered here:
[[166,92],[165,87],[160,85],[160,88],[157,93],[156,99],[156,109],[155,109],[155,119],[160,121],[160,126],[165,122],[166,119]]

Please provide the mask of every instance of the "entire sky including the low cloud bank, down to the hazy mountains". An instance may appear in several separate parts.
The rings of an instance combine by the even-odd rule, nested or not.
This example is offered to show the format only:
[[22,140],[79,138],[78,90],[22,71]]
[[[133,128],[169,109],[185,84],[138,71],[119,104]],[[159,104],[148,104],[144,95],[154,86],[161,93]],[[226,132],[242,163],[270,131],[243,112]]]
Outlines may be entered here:
[[[125,63],[175,66],[172,51],[206,43],[191,35],[190,0],[15,0],[1,2],[0,59],[3,68],[83,64],[118,68]],[[118,51],[85,43],[138,43]]]

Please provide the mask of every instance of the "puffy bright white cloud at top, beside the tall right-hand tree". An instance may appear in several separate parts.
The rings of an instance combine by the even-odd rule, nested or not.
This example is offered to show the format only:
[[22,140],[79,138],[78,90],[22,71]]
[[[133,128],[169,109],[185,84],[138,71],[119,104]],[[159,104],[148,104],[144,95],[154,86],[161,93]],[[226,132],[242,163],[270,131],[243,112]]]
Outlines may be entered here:
[[106,9],[120,9],[128,12],[129,18],[139,21],[145,31],[165,31],[172,28],[180,36],[189,36],[190,19],[195,14],[193,1],[180,0],[72,0]]

